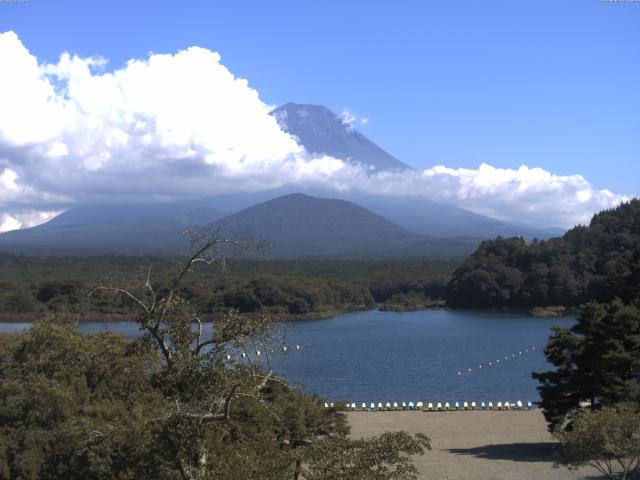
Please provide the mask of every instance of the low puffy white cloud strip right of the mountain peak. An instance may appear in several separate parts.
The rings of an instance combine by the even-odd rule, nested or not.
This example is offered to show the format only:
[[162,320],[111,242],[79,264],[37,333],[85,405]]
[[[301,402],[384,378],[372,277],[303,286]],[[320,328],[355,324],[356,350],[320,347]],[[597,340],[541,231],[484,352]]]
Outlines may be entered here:
[[[380,172],[371,192],[419,195],[500,220],[567,228],[588,224],[591,216],[630,197],[596,190],[581,175],[554,175],[542,168],[477,169],[435,166],[425,170]],[[401,193],[400,193],[401,192]]]

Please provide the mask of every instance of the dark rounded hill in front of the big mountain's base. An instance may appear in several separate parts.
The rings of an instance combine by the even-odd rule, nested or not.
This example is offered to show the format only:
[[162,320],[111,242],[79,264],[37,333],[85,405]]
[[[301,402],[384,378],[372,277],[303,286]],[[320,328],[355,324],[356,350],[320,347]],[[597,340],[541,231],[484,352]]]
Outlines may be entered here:
[[480,243],[419,235],[353,202],[300,193],[259,203],[208,228],[223,237],[265,240],[267,258],[461,259]]

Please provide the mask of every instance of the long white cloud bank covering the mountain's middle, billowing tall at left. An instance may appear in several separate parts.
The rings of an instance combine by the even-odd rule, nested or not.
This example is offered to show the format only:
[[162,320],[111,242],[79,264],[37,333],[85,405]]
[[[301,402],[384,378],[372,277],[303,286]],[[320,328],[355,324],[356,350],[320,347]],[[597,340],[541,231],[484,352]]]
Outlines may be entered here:
[[[418,195],[520,223],[568,227],[626,199],[539,168],[371,172],[311,155],[210,50],[38,62],[0,34],[0,231],[75,202],[170,200],[286,185]],[[348,112],[348,111],[347,111]],[[352,114],[345,122],[355,123]],[[514,159],[517,162],[516,159]]]

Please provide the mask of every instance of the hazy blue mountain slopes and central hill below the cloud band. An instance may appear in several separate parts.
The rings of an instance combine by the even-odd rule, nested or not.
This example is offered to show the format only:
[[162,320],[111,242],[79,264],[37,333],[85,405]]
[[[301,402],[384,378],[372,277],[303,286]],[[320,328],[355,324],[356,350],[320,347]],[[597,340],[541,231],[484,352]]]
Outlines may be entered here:
[[[186,230],[266,242],[265,258],[420,257],[461,259],[497,235],[546,238],[426,200],[415,204],[362,197],[369,210],[341,199],[289,194],[240,209],[268,193],[200,201],[96,205],[71,209],[34,228],[0,235],[0,249],[54,254],[176,254]],[[228,214],[228,212],[234,212]],[[379,215],[375,212],[383,212]]]

